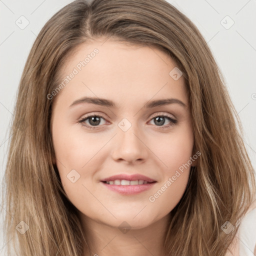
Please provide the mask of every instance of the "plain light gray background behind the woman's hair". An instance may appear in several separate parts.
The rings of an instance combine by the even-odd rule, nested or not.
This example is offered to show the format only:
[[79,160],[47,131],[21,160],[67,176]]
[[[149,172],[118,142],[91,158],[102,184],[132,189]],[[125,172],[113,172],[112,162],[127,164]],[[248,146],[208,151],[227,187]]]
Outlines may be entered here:
[[[168,1],[194,22],[212,50],[241,119],[244,142],[255,168],[256,0]],[[0,0],[0,179],[6,164],[9,121],[27,55],[44,23],[69,2]],[[25,24],[22,15],[29,21],[24,29],[15,23]],[[227,15],[231,19],[224,18]],[[234,24],[228,28],[232,20]],[[2,233],[0,255],[6,255],[1,237]]]

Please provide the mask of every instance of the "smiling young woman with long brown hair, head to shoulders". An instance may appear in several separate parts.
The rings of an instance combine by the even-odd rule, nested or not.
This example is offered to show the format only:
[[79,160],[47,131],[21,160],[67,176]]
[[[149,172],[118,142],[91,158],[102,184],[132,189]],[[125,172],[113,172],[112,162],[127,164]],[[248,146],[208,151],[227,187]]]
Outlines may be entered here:
[[255,177],[222,80],[166,1],[76,0],[53,15],[18,89],[9,254],[238,255]]

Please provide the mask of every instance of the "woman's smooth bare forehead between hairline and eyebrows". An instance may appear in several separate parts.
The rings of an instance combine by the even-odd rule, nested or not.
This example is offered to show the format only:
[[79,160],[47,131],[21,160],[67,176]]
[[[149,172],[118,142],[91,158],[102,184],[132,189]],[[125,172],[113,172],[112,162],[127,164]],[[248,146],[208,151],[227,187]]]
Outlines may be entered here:
[[[135,104],[176,97],[187,103],[184,79],[173,79],[175,62],[153,46],[111,39],[80,44],[60,71],[57,100],[70,103],[82,96]],[[174,70],[174,71],[172,71]]]

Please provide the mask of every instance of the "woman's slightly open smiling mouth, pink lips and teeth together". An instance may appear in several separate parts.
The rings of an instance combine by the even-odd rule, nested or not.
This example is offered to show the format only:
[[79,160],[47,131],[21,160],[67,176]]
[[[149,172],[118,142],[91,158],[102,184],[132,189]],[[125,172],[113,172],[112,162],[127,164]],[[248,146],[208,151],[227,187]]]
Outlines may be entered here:
[[140,174],[114,175],[100,181],[106,188],[121,194],[136,194],[151,188],[157,182]]

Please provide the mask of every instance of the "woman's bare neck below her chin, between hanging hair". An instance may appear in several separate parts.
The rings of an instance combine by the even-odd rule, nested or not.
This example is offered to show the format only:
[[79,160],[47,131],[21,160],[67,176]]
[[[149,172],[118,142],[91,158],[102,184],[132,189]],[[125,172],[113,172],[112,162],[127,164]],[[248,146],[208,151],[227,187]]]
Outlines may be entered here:
[[[168,216],[140,228],[125,229],[109,226],[82,215],[82,225],[88,246],[84,256],[162,256],[168,227]],[[125,225],[125,224],[124,224]]]

